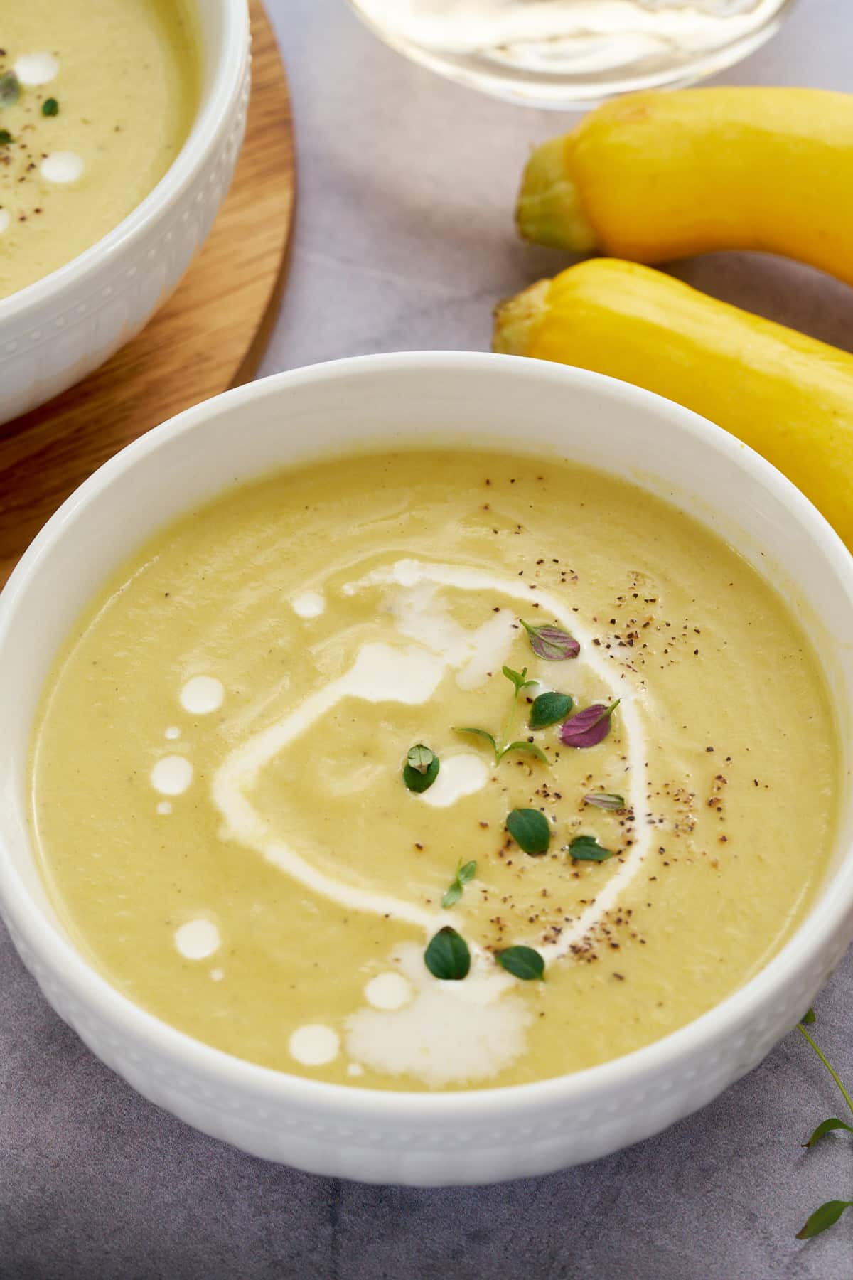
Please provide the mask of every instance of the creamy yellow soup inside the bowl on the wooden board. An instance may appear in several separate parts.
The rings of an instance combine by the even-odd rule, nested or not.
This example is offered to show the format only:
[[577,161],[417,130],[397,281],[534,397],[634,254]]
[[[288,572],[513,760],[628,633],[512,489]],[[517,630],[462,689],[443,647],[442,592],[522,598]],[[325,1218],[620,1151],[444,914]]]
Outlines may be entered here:
[[198,93],[191,0],[0,6],[0,298],[77,257],[148,195]]

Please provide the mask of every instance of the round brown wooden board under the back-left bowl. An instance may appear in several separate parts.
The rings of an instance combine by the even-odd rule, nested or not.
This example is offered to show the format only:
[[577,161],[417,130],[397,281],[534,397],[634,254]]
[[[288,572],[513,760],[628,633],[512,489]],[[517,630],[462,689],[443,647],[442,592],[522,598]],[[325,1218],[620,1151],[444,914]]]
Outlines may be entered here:
[[0,585],[61,502],[173,413],[248,381],[275,320],[294,204],[288,83],[261,0],[252,97],[230,192],[178,292],[78,387],[0,426]]

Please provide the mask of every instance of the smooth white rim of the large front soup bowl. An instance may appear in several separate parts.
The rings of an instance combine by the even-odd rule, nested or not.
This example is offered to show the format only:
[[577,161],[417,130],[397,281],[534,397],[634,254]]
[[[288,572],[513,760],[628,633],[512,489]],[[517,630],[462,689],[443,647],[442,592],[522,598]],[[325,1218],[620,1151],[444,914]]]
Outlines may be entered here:
[[[121,449],[63,503],[22,557],[0,594],[0,644],[15,612],[18,595],[38,572],[51,548],[63,538],[65,526],[77,511],[96,499],[109,488],[114,477],[132,468],[138,460],[156,452],[166,440],[198,429],[211,413],[219,415],[223,410],[235,411],[253,399],[276,396],[280,390],[286,392],[289,387],[345,378],[358,370],[381,375],[385,370],[411,366],[440,375],[449,367],[469,367],[485,372],[489,367],[495,367],[496,362],[512,365],[519,376],[529,376],[532,383],[574,381],[581,387],[604,392],[628,406],[645,403],[659,416],[673,421],[687,436],[702,439],[705,447],[748,471],[756,484],[769,489],[786,504],[792,518],[815,538],[830,567],[841,581],[847,582],[848,598],[853,605],[853,557],[826,520],[765,458],[691,410],[629,383],[565,365],[485,352],[403,352],[356,356],[274,374],[196,404]],[[239,435],[234,439],[239,440]],[[55,929],[40,928],[40,922],[43,920],[41,911],[33,910],[31,897],[18,873],[0,856],[0,891],[14,925],[35,954],[43,957],[51,970],[61,973],[64,984],[73,991],[81,1005],[97,1010],[97,1016],[111,1029],[127,1033],[130,1043],[146,1041],[155,1052],[173,1064],[200,1071],[203,1076],[215,1079],[221,1088],[235,1089],[238,1094],[246,1094],[248,1091],[256,1097],[286,1102],[294,1107],[304,1102],[333,1114],[352,1116],[353,1111],[358,1111],[364,1117],[381,1114],[384,1119],[390,1116],[407,1123],[458,1120],[464,1124],[482,1120],[490,1112],[505,1115],[509,1111],[514,1114],[538,1111],[560,1103],[578,1102],[584,1097],[607,1094],[619,1087],[637,1084],[659,1073],[671,1073],[679,1059],[702,1050],[710,1051],[726,1030],[732,1030],[735,1025],[747,1025],[765,1004],[781,996],[795,973],[807,970],[812,961],[818,963],[824,940],[843,928],[845,916],[853,909],[853,849],[845,851],[841,864],[833,874],[831,890],[831,893],[821,893],[794,936],[755,978],[714,1009],[662,1039],[601,1066],[532,1084],[416,1093],[329,1084],[290,1075],[286,1071],[233,1057],[170,1027],[111,987],[106,978],[91,968],[72,943]]]

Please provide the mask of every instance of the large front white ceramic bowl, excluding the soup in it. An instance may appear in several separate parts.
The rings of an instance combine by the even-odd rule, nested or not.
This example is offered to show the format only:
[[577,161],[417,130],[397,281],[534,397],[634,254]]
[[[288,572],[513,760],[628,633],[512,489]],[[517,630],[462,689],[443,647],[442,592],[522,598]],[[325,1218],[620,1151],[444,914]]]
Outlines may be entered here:
[[560,454],[671,498],[771,577],[816,639],[853,764],[853,559],[767,462],[694,413],[597,374],[508,356],[368,356],[219,396],[101,467],[0,596],[0,906],[54,1009],[147,1098],[246,1151],[320,1174],[483,1183],[606,1155],[710,1102],[806,1011],[853,936],[853,788],[808,918],[751,982],[655,1044],[513,1088],[384,1093],[307,1080],[191,1039],[119,995],[46,899],[27,826],[42,682],[79,609],[164,521],[238,480],[427,433],[449,447]]

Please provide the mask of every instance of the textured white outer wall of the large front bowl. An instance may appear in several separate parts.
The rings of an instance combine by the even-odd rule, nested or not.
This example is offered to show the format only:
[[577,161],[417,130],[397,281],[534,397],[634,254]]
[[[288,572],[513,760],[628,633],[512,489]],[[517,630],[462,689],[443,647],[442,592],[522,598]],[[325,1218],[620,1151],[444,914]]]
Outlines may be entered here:
[[[63,974],[46,966],[4,913],[12,940],[42,993],[101,1061],[156,1106],[253,1156],[326,1176],[416,1187],[483,1184],[552,1172],[596,1160],[660,1133],[716,1098],[770,1052],[811,1005],[853,938],[853,918],[826,940],[820,959],[798,974],[758,1018],[683,1055],[668,1070],[648,1070],[622,1084],[591,1085],[567,1101],[494,1091],[494,1106],[469,1108],[444,1121],[427,1108],[402,1116],[382,1107],[386,1094],[363,1106],[364,1091],[348,1091],[331,1107],[223,1083],[185,1056],[128,1036],[83,1005]],[[246,1069],[247,1076],[251,1069]],[[237,1073],[240,1074],[240,1073]],[[286,1078],[285,1078],[286,1079]],[[537,1087],[533,1085],[533,1089]],[[343,1092],[343,1091],[340,1091]],[[487,1093],[478,1094],[478,1098]],[[368,1112],[370,1114],[366,1114]],[[419,1114],[417,1114],[419,1111]]]

